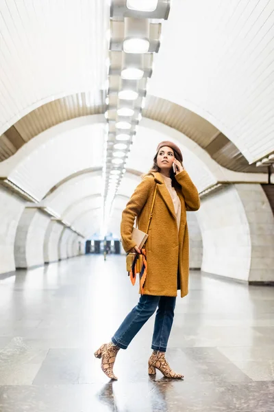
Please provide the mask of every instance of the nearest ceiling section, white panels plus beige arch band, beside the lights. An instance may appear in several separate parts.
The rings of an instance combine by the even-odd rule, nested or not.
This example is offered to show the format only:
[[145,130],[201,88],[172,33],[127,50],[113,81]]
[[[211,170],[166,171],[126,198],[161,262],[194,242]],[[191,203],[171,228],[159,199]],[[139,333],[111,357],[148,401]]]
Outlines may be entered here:
[[[110,10],[99,0],[7,0],[0,15],[3,160],[53,124],[105,110]],[[273,23],[272,1],[173,0],[145,116],[196,139],[224,167],[256,172],[247,161],[274,148]]]

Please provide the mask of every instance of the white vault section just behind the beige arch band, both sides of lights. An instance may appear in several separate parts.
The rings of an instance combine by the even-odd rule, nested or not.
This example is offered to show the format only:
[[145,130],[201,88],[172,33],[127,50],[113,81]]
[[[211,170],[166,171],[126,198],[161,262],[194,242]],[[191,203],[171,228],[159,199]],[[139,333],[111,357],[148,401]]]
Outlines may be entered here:
[[[199,190],[205,190],[216,181],[264,182],[266,179],[263,174],[243,174],[222,168],[193,140],[151,119],[143,119],[127,166],[138,172],[147,172],[155,147],[166,139],[176,141],[182,148],[184,164]],[[71,175],[81,175],[84,179],[86,170],[100,173],[103,141],[102,115],[77,117],[62,122],[40,133],[15,155],[1,162],[0,176],[8,177],[37,201],[41,201]]]

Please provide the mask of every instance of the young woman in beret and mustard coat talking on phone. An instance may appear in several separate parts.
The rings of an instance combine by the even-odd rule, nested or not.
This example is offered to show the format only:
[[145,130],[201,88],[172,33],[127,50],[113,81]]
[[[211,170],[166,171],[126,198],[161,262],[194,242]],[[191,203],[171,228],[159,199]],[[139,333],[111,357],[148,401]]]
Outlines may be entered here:
[[181,290],[181,297],[188,294],[186,210],[197,210],[200,205],[197,188],[184,170],[182,161],[181,150],[171,141],[162,141],[153,159],[153,168],[136,187],[123,211],[123,248],[126,252],[140,253],[132,240],[134,220],[137,216],[138,229],[147,230],[156,188],[149,237],[145,245],[147,277],[143,290],[140,290],[140,300],[114,333],[112,341],[101,345],[95,352],[95,357],[101,358],[103,372],[113,380],[117,379],[113,373],[116,354],[120,349],[127,349],[156,308],[149,374],[154,375],[155,369],[159,369],[167,378],[183,378],[171,369],[165,358],[177,290]]

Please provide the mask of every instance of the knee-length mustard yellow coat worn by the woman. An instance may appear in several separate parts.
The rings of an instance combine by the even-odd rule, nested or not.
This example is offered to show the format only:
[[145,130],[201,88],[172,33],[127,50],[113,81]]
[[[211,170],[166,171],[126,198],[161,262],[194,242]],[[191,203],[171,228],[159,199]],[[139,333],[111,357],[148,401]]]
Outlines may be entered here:
[[155,205],[149,227],[149,238],[145,246],[147,253],[145,295],[177,296],[178,284],[181,288],[181,297],[188,294],[189,242],[186,210],[198,210],[200,200],[197,188],[186,170],[178,173],[176,180],[181,186],[180,190],[176,189],[182,205],[179,233],[171,195],[164,184],[162,174],[158,172],[153,172],[142,179],[122,214],[121,237],[123,248],[128,252],[136,246],[132,241],[136,216],[138,216],[138,229],[147,230],[156,185]]

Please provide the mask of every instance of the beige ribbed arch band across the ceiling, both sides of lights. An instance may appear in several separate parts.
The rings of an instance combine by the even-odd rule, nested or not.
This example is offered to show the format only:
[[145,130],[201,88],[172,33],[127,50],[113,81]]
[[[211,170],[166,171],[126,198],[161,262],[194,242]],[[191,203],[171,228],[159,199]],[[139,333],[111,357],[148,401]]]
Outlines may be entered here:
[[[104,113],[103,93],[94,98],[91,93],[77,93],[49,102],[18,120],[0,136],[0,161],[8,159],[18,148],[39,133],[69,119]],[[205,149],[212,159],[229,170],[266,172],[266,168],[249,165],[240,150],[215,126],[196,113],[162,98],[148,95],[144,117],[162,122],[190,137]]]

